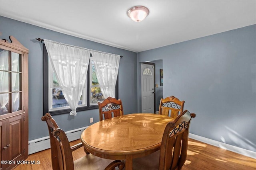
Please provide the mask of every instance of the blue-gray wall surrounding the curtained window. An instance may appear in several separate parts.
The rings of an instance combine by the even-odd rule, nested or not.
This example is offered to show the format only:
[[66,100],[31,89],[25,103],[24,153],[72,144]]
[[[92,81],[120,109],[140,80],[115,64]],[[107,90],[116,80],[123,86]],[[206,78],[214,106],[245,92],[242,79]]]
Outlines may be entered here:
[[[49,135],[46,123],[41,121],[43,115],[42,44],[36,41],[35,38],[50,39],[124,56],[120,59],[119,66],[119,98],[123,103],[124,114],[137,112],[136,53],[65,35],[2,16],[0,16],[0,31],[2,32],[1,39],[8,39],[9,35],[12,35],[29,49],[29,140]],[[78,112],[77,116],[69,114],[56,115],[54,119],[64,131],[69,131],[92,124],[90,123],[90,117],[94,118],[94,123],[99,121],[98,109],[81,111]]]

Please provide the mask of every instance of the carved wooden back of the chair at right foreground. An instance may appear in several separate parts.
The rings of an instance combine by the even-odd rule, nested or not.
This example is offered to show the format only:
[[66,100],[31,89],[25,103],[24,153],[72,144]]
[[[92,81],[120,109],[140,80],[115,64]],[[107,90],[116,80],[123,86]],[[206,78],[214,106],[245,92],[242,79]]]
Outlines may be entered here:
[[[159,170],[180,170],[187,158],[188,131],[195,113],[185,110],[164,130],[160,149]],[[164,160],[164,161],[161,161]]]

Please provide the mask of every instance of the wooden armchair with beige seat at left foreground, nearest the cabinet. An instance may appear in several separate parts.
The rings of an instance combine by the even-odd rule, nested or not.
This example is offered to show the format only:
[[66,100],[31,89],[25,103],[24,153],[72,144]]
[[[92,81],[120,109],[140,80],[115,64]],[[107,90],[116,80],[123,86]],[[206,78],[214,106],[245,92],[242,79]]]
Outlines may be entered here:
[[89,152],[73,161],[72,152],[83,147],[83,144],[79,143],[70,147],[66,133],[58,127],[50,113],[46,113],[42,117],[42,121],[46,121],[48,125],[53,170],[103,170],[104,168],[105,170],[115,170],[115,167],[122,170],[124,168],[124,163],[121,161],[100,158]]

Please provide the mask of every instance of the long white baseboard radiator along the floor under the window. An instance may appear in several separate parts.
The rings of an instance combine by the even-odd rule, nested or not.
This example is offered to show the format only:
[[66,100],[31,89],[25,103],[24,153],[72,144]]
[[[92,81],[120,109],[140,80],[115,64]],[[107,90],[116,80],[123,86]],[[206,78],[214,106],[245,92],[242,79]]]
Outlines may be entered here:
[[[80,139],[82,132],[86,127],[81,127],[79,129],[74,129],[71,131],[66,131],[66,135],[68,137],[68,141],[75,141],[77,139]],[[42,137],[39,139],[34,139],[32,141],[28,141],[28,154],[36,153],[45,149],[50,148],[50,138],[49,136],[47,137]]]

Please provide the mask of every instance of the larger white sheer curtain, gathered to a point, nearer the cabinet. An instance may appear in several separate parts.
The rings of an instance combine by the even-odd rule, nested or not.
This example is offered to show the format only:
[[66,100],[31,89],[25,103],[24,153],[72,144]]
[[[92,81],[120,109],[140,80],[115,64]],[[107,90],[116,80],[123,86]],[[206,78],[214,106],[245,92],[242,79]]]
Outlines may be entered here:
[[91,51],[47,39],[44,44],[62,93],[72,109],[70,115],[76,115]]

